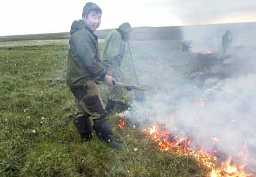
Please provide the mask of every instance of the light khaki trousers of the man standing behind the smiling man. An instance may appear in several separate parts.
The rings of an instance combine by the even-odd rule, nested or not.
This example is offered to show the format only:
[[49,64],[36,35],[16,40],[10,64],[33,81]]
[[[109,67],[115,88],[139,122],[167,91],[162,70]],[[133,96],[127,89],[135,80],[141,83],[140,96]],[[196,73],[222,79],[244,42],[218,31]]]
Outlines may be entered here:
[[[115,81],[121,82],[121,74],[112,74],[112,77],[115,78]],[[110,87],[108,86],[109,99],[115,102],[124,103],[124,89],[119,86]]]

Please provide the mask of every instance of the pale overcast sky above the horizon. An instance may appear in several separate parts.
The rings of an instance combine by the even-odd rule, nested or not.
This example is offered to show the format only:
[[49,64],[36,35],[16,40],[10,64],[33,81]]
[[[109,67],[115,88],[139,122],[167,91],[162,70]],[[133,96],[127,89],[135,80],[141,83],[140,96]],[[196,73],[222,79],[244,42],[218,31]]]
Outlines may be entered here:
[[[68,32],[81,19],[84,4],[75,0],[1,0],[0,36]],[[102,8],[99,29],[123,22],[138,26],[176,26],[256,22],[255,0],[95,0]]]

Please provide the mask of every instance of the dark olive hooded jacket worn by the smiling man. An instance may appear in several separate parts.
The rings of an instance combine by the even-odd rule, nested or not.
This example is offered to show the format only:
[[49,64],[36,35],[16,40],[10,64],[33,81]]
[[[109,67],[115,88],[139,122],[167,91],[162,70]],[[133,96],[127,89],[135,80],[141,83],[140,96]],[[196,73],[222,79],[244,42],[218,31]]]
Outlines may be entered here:
[[84,20],[74,21],[70,33],[66,85],[81,87],[87,79],[105,78],[97,36],[87,28]]

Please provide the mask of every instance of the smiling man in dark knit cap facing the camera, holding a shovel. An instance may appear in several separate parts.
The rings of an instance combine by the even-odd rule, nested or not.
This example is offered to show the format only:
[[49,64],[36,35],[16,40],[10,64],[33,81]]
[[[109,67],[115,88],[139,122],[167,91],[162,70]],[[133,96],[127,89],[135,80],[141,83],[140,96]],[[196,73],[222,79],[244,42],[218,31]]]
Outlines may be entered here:
[[[97,80],[105,81],[112,87],[114,78],[107,75],[100,65],[100,54],[95,30],[99,28],[102,11],[93,2],[88,2],[83,9],[83,20],[74,21],[71,26],[69,39],[68,69],[66,85],[75,96],[77,115],[75,126],[84,141],[92,139],[93,129],[103,142],[112,148],[119,149],[120,144],[112,138],[111,126],[106,120]],[[94,125],[92,126],[91,120]]]

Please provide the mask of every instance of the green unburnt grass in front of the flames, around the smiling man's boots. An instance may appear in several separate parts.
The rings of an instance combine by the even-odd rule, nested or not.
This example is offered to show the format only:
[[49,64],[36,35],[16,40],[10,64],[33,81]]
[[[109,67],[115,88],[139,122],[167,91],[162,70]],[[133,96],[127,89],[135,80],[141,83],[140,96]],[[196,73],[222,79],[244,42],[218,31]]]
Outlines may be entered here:
[[4,47],[0,53],[1,177],[206,176],[193,158],[159,151],[138,129],[119,130],[114,115],[109,120],[124,144],[120,152],[96,136],[81,143],[68,121],[75,105],[65,86],[66,45]]

